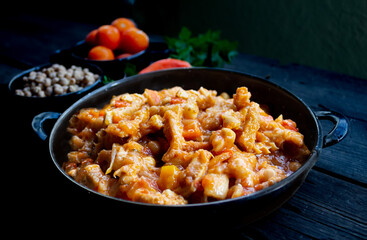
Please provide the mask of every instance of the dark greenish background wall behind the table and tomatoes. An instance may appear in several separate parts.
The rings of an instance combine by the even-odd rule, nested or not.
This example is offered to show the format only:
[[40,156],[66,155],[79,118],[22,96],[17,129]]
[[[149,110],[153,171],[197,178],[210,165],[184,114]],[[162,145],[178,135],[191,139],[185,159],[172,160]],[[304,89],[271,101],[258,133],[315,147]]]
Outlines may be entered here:
[[[1,52],[12,41],[7,38],[6,29],[28,24],[30,31],[35,30],[30,16],[35,17],[33,21],[53,17],[84,23],[85,29],[75,30],[81,37],[93,27],[122,16],[133,18],[149,34],[175,36],[182,26],[196,34],[207,29],[220,30],[223,37],[239,42],[240,52],[275,59],[281,64],[303,64],[367,79],[364,0],[10,2],[1,13]],[[62,40],[59,46],[64,47]],[[37,46],[30,42],[26,47]]]

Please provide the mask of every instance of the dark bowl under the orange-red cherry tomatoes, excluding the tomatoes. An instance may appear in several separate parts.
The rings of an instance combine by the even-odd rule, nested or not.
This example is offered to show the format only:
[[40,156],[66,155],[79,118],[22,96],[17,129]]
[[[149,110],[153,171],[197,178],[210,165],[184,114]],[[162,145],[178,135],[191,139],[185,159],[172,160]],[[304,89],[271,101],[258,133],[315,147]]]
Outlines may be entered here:
[[[151,62],[167,58],[169,56],[169,50],[167,44],[164,42],[150,42],[146,50],[133,54],[126,58],[96,61],[87,59],[88,52],[92,48],[84,40],[78,42],[70,49],[58,50],[51,56],[52,60],[73,60],[81,63],[94,64],[103,70],[103,73],[114,79],[119,80],[125,76],[125,68],[127,64],[131,64],[139,71],[148,66]],[[121,52],[122,53],[122,52]],[[116,52],[117,56],[119,52]]]

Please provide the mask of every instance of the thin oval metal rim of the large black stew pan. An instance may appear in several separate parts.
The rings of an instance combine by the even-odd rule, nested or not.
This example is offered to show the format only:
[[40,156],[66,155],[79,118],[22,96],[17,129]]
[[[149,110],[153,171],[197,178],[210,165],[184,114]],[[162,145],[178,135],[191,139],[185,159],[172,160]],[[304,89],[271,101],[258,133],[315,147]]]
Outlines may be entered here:
[[[314,149],[311,150],[311,154],[308,157],[308,159],[305,161],[305,164],[303,164],[301,166],[301,168],[299,168],[296,172],[294,172],[293,174],[291,174],[290,176],[286,177],[285,179],[281,180],[278,183],[275,183],[272,186],[269,186],[265,189],[262,189],[258,192],[252,193],[250,195],[247,196],[243,196],[243,197],[237,197],[237,198],[233,198],[233,199],[224,199],[224,200],[218,200],[218,201],[214,201],[214,202],[208,202],[208,203],[192,203],[192,204],[186,204],[186,205],[158,205],[158,204],[151,204],[151,203],[141,203],[141,202],[133,202],[133,201],[129,201],[129,200],[124,200],[124,199],[120,199],[120,198],[115,198],[115,197],[111,197],[111,196],[107,196],[101,193],[98,193],[96,191],[93,191],[89,188],[87,188],[86,186],[76,182],[72,177],[70,177],[69,175],[67,175],[65,173],[65,171],[61,168],[61,166],[57,163],[55,156],[54,156],[54,152],[52,150],[52,145],[53,145],[53,141],[54,141],[54,135],[55,132],[58,128],[58,125],[60,125],[61,121],[63,121],[64,116],[70,114],[71,112],[75,112],[78,109],[74,109],[76,105],[78,105],[79,103],[83,102],[85,99],[88,99],[89,97],[91,97],[91,95],[95,95],[99,92],[103,92],[108,90],[111,87],[120,85],[120,84],[125,84],[131,81],[134,81],[135,78],[139,78],[140,76],[145,76],[148,77],[149,75],[160,75],[162,72],[175,72],[175,71],[187,71],[187,72],[195,72],[195,71],[211,71],[211,72],[226,72],[229,74],[236,74],[236,75],[246,75],[249,78],[253,78],[256,79],[257,81],[261,81],[264,82],[266,84],[271,85],[274,88],[278,88],[280,90],[282,90],[283,92],[285,92],[286,94],[290,95],[292,98],[294,98],[295,101],[299,101],[301,102],[309,111],[309,113],[312,115],[313,120],[316,124],[316,128],[317,128],[317,143],[314,147]],[[149,74],[149,75],[148,75]],[[65,120],[64,120],[65,121]],[[291,181],[295,180],[299,175],[301,175],[303,172],[305,171],[309,171],[313,165],[316,163],[318,155],[321,151],[321,129],[319,127],[319,122],[314,114],[314,112],[308,107],[307,104],[305,104],[300,98],[298,98],[297,96],[295,96],[294,94],[292,94],[291,92],[289,92],[288,90],[272,83],[269,81],[266,81],[260,77],[254,76],[254,75],[249,75],[247,73],[243,73],[243,72],[238,72],[238,71],[232,71],[232,70],[226,70],[226,69],[220,69],[220,68],[202,68],[202,67],[194,67],[194,68],[179,68],[179,69],[167,69],[167,70],[161,70],[161,71],[157,71],[157,72],[152,72],[152,73],[146,73],[143,75],[136,75],[136,76],[132,76],[132,77],[127,77],[127,78],[123,78],[121,80],[109,83],[91,93],[88,93],[86,96],[84,96],[83,98],[79,99],[77,102],[75,102],[72,106],[70,106],[57,120],[57,122],[55,123],[52,132],[50,134],[50,138],[49,138],[49,151],[52,157],[52,161],[54,162],[54,164],[56,165],[56,167],[58,168],[58,170],[66,177],[68,178],[71,182],[75,183],[76,185],[78,185],[79,187],[82,187],[83,189],[87,190],[89,193],[93,193],[93,194],[97,194],[101,197],[104,198],[108,198],[114,201],[120,201],[123,203],[127,203],[127,204],[132,204],[132,205],[140,205],[140,206],[145,206],[145,207],[154,207],[154,208],[192,208],[192,207],[211,207],[211,206],[216,206],[216,205],[227,205],[227,204],[231,204],[233,202],[238,202],[238,201],[245,201],[245,200],[251,200],[254,198],[261,198],[264,195],[267,195],[271,192],[274,192],[282,187],[284,187],[285,185],[287,185],[288,183],[290,183]],[[307,175],[307,174],[306,174]],[[241,203],[241,204],[245,204]]]

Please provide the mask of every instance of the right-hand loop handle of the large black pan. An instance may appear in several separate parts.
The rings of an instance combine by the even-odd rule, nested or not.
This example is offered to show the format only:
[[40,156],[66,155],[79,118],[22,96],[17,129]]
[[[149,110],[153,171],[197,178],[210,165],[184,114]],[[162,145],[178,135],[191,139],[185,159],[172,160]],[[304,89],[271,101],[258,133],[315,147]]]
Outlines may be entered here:
[[323,138],[323,148],[332,146],[347,136],[349,121],[343,114],[331,110],[317,111],[315,114],[319,120],[329,120],[334,124],[333,129]]

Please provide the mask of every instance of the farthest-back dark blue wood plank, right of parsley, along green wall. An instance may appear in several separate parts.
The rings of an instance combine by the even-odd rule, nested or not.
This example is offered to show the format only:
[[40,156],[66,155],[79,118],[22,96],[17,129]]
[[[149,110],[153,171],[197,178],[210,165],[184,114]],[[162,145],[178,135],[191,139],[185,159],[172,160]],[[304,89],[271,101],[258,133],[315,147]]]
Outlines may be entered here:
[[281,66],[275,60],[239,54],[233,64],[225,66],[267,78],[308,105],[322,104],[350,117],[367,119],[367,81],[342,74],[300,65]]

